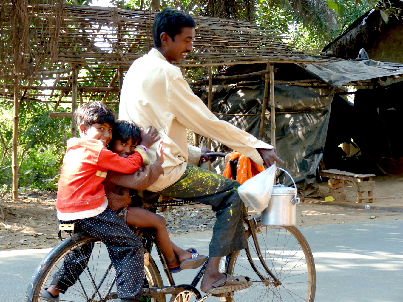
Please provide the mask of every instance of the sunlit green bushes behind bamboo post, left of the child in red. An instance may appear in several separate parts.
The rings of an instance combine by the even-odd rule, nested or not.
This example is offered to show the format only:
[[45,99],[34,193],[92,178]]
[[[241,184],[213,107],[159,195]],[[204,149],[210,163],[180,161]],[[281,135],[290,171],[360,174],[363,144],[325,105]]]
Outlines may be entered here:
[[[0,108],[0,190],[9,191],[12,186],[12,107],[9,103],[1,103]],[[20,107],[20,189],[56,189],[66,140],[71,136],[71,119],[49,118],[51,111],[46,103],[23,103]]]

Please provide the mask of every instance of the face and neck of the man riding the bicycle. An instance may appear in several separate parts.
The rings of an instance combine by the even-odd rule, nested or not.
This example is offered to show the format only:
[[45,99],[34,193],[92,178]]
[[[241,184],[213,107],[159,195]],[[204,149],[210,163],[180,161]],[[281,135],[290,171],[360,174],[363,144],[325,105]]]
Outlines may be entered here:
[[195,38],[193,27],[182,27],[181,33],[174,37],[174,41],[167,36],[165,57],[170,62],[180,62],[193,50],[192,40]]

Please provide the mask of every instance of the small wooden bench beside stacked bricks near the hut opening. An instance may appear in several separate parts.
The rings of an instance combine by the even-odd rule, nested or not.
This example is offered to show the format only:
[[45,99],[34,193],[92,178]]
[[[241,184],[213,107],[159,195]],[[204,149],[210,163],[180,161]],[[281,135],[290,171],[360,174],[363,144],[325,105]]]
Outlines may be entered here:
[[[344,192],[344,182],[347,182],[357,189],[357,203],[361,203],[366,199],[368,199],[369,203],[372,203],[374,199],[372,191],[375,189],[375,181],[372,180],[372,177],[375,176],[375,174],[355,174],[330,169],[319,171],[319,176],[329,178],[328,187],[330,193]],[[368,192],[368,197],[363,197],[363,192]]]

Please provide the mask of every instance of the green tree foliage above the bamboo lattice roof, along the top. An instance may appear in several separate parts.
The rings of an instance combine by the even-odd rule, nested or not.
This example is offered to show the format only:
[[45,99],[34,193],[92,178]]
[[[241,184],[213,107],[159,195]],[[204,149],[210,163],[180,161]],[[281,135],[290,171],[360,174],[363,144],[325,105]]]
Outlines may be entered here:
[[[152,9],[153,1],[119,0],[115,5],[133,9]],[[158,1],[154,1],[158,2]],[[200,0],[162,0],[159,8],[177,7],[196,15],[213,16],[209,3],[214,1]],[[218,5],[214,2],[214,5]],[[233,6],[240,13],[232,13],[231,18],[250,21],[245,11],[253,11],[253,22],[277,29],[291,37],[291,43],[303,50],[322,50],[326,44],[340,35],[351,23],[373,7],[375,0],[254,0],[254,1],[222,1],[224,6]],[[249,6],[253,4],[253,9]],[[249,5],[249,6],[248,6]],[[248,13],[250,14],[250,13]],[[233,15],[233,16],[232,16]]]

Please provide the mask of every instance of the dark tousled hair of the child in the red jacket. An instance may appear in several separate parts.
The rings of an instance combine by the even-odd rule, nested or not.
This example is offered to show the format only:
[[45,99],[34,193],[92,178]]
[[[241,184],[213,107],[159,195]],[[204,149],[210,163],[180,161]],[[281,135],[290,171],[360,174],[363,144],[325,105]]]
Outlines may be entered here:
[[115,115],[108,106],[100,102],[88,103],[75,112],[77,124],[84,124],[91,127],[92,124],[107,123],[110,126],[115,124]]

